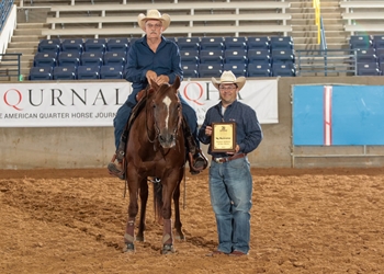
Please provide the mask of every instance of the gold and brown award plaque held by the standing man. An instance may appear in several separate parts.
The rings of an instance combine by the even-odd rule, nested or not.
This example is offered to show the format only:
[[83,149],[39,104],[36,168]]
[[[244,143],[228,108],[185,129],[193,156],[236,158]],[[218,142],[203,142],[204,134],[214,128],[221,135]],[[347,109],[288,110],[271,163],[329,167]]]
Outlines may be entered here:
[[212,123],[212,152],[235,152],[236,123]]

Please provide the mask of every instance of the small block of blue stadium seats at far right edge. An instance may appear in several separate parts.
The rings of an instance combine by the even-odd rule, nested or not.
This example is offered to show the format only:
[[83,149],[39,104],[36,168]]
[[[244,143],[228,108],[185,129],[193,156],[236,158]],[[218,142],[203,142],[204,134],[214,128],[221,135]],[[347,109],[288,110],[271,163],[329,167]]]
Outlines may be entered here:
[[357,52],[359,76],[383,76],[384,35],[352,35],[349,39],[351,49]]

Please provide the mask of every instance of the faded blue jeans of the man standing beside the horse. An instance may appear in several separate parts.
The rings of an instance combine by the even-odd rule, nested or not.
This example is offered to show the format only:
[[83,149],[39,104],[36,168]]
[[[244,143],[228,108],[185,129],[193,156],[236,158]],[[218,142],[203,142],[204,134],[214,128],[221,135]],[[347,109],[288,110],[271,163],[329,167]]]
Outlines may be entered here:
[[224,163],[212,161],[210,195],[217,225],[217,250],[248,253],[252,206],[252,176],[248,158]]

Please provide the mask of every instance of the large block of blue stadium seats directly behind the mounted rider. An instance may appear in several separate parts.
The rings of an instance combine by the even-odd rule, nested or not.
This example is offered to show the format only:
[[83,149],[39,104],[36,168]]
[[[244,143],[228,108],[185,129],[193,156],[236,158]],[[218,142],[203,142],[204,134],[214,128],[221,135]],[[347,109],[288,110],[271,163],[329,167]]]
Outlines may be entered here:
[[[127,50],[137,38],[42,39],[30,80],[124,78]],[[295,76],[291,36],[178,37],[184,78]]]

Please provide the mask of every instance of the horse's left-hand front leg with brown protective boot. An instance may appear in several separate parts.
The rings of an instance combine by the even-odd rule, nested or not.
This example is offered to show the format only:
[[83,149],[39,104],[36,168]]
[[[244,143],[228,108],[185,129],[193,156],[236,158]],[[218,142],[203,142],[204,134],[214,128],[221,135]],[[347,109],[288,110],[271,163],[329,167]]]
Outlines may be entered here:
[[137,192],[138,189],[129,186],[129,205],[128,205],[128,220],[125,227],[124,235],[124,252],[134,252],[135,251],[135,219],[138,212],[137,205]]

